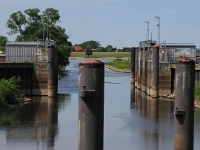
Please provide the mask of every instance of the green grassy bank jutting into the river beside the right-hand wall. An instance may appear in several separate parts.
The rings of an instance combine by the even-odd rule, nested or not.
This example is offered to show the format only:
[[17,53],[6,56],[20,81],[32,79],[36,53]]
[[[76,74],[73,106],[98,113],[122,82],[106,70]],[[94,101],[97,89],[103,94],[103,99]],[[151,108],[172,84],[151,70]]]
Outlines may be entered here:
[[124,60],[124,59],[116,59],[112,62],[105,62],[105,65],[113,66],[118,69],[126,69],[126,68],[130,68],[131,61]]

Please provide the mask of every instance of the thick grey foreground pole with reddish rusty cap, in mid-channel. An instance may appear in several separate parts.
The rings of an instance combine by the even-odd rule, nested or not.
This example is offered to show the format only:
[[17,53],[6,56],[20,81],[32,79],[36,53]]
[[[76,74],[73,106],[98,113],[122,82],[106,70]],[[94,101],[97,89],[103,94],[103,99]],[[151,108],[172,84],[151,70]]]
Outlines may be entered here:
[[79,63],[78,150],[103,150],[104,63]]

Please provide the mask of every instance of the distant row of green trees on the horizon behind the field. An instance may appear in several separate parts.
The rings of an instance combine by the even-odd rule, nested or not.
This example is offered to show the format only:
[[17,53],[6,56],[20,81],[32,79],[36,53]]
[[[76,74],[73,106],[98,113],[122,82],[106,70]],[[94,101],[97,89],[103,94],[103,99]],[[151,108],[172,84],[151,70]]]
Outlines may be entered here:
[[122,49],[118,49],[116,47],[113,47],[112,45],[107,45],[106,47],[102,47],[99,42],[94,40],[86,41],[81,44],[75,44],[75,46],[80,46],[83,49],[83,51],[88,49],[89,47],[91,50],[96,52],[114,52],[114,51],[130,52],[129,47],[123,47]]

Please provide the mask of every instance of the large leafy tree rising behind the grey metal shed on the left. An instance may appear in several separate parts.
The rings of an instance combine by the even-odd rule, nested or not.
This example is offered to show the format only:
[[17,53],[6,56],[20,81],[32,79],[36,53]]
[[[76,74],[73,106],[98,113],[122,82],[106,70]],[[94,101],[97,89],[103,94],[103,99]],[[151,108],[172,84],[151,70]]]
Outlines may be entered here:
[[[65,33],[65,29],[56,25],[60,21],[59,11],[47,8],[42,14],[39,13],[40,10],[38,8],[26,9],[24,13],[21,11],[12,13],[7,22],[7,28],[10,29],[8,34],[19,33],[15,41],[43,41],[43,33],[47,33],[49,35],[47,38],[53,39],[57,44],[59,62],[62,65],[64,62],[69,63],[68,57],[71,52],[69,47],[72,46],[72,43],[68,41],[69,36]],[[64,52],[66,54],[63,54]],[[61,58],[65,59],[65,61],[61,61]]]

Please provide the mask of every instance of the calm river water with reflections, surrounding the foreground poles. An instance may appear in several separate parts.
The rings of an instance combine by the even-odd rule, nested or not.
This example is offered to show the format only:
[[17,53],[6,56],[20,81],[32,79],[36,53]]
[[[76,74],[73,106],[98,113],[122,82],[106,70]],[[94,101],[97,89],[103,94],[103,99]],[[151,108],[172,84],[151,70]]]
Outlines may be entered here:
[[[70,59],[56,99],[33,97],[34,103],[0,113],[0,150],[77,150],[81,60]],[[172,150],[173,102],[135,90],[130,94],[130,88],[129,73],[105,69],[104,150]],[[195,150],[199,141],[195,111]]]

